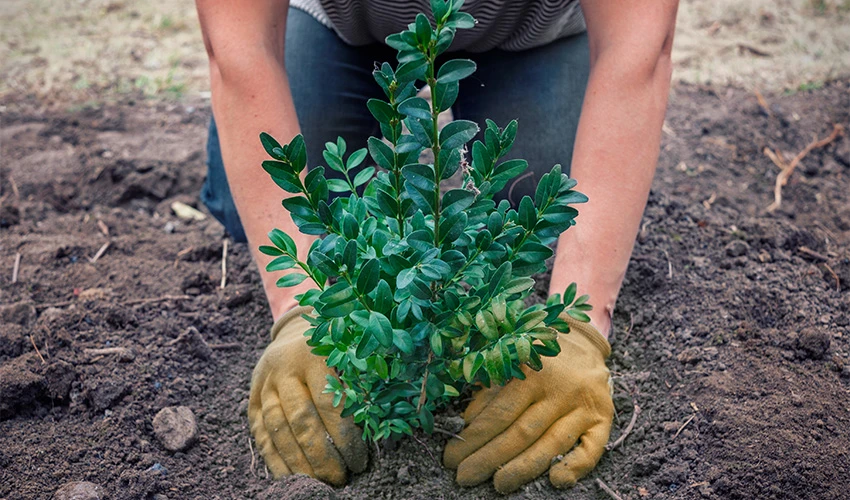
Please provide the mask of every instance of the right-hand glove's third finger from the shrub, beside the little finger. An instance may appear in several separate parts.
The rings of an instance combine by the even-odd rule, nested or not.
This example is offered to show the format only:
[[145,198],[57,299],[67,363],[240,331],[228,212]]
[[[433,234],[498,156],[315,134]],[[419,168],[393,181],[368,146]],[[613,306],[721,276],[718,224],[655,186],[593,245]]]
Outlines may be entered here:
[[570,450],[585,430],[584,415],[573,412],[561,417],[543,436],[516,458],[496,471],[493,486],[499,493],[510,493],[546,472],[552,459]]

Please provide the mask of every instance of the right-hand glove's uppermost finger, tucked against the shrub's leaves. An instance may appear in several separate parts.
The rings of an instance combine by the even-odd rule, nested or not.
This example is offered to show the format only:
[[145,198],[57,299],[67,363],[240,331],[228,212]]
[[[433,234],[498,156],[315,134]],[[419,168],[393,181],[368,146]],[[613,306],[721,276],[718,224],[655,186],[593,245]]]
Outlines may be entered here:
[[516,422],[532,403],[531,393],[518,387],[519,384],[508,384],[492,396],[482,394],[488,399],[486,406],[480,411],[476,408],[474,419],[465,419],[469,425],[460,433],[460,439],[453,438],[446,444],[443,454],[446,467],[456,469],[468,456]]

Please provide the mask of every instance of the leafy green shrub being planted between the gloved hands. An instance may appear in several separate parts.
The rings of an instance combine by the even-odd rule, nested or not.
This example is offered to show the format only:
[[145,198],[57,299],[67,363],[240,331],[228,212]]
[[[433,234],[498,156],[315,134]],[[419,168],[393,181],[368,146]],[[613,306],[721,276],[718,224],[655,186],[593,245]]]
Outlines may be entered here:
[[[575,284],[546,304],[524,305],[531,276],[545,271],[553,254],[549,246],[575,224],[571,205],[587,201],[573,190],[576,182],[556,165],[517,209],[504,200],[497,205],[493,195],[528,166],[503,161],[516,120],[504,128],[488,120],[471,161],[466,144],[478,125],[437,127],[460,80],[475,71],[466,59],[435,63],[458,29],[475,25],[460,12],[462,3],[432,0],[434,23],[419,14],[387,37],[398,65],[375,69],[386,100],[366,103],[383,138],[370,137],[352,152],[342,138],[327,143],[324,160],[339,178],[326,178],[321,166],[302,175],[301,136],[282,146],[261,135],[272,158],[263,168],[294,195],[283,206],[302,233],[320,236],[298,255],[292,238],[273,230],[271,245],[260,247],[274,257],[266,269],[300,269],[283,275],[280,287],[307,278],[316,284],[298,297],[315,309],[307,342],[335,369],[326,392],[362,425],[364,439],[431,432],[435,409],[466,385],[522,379],[521,365],[540,370],[543,356],[558,354],[559,332],[569,331],[562,312],[589,320],[587,296],[576,298]],[[430,88],[430,102],[417,97],[420,83]],[[425,150],[433,163],[420,163]],[[463,188],[441,189],[456,174]]]

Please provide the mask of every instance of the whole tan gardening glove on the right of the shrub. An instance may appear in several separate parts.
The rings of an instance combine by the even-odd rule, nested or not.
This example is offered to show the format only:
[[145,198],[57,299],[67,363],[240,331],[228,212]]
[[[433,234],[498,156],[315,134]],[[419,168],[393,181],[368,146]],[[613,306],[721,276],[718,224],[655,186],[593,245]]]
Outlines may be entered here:
[[563,488],[596,466],[614,414],[605,366],[611,346],[590,324],[562,318],[570,333],[558,336],[558,356],[544,359],[539,372],[523,367],[525,380],[482,389],[469,404],[467,427],[443,456],[461,486],[493,476],[496,490],[509,493],[548,469],[552,485]]

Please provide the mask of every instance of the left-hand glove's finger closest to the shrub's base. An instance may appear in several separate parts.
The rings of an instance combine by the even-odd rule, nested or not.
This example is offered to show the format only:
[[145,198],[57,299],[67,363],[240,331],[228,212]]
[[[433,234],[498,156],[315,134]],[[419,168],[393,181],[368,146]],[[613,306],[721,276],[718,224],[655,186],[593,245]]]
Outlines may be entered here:
[[[323,394],[327,384],[325,372],[315,370],[308,376],[313,404],[324,422],[333,445],[353,472],[363,472],[369,464],[369,449],[363,441],[363,431],[351,418],[342,418],[342,407],[334,407],[331,394]],[[321,389],[320,389],[321,388]]]

